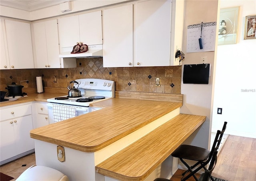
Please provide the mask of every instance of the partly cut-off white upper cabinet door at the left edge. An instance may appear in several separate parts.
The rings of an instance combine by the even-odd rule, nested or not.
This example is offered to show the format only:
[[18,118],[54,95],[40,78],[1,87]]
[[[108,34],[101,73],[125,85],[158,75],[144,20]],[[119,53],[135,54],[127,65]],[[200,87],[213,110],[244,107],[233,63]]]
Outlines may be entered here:
[[6,59],[6,50],[5,50],[5,45],[4,45],[4,29],[2,26],[2,20],[0,20],[0,69],[5,70],[5,69],[10,69],[9,67],[9,62],[7,62]]

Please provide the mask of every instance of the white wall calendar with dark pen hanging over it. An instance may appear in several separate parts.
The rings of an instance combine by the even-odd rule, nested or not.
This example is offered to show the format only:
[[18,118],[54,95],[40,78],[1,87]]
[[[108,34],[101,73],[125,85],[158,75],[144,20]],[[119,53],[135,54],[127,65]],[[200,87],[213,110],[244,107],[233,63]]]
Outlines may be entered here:
[[[187,53],[210,52],[215,49],[216,22],[193,24],[188,26]],[[202,40],[200,47],[199,39]],[[200,40],[200,41],[201,41]]]

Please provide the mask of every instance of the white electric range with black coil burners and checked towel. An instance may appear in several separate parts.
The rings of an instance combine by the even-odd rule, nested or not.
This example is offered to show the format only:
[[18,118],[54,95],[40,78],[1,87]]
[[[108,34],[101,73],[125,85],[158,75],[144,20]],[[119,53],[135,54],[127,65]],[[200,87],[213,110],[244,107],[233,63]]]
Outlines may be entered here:
[[112,80],[77,79],[75,81],[78,85],[74,84],[74,87],[81,91],[81,97],[65,95],[47,99],[49,123],[98,110],[90,107],[90,103],[115,97],[115,82]]

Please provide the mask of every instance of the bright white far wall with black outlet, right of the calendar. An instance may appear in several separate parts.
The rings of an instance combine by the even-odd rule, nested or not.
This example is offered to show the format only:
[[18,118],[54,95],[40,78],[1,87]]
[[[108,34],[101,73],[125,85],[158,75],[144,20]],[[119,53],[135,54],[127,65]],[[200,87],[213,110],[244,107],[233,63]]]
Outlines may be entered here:
[[[256,15],[256,1],[220,1],[220,8],[236,6],[240,6],[237,43],[217,50],[212,131],[227,121],[227,134],[256,138],[256,39],[244,40],[245,16]],[[217,114],[218,107],[222,114]]]

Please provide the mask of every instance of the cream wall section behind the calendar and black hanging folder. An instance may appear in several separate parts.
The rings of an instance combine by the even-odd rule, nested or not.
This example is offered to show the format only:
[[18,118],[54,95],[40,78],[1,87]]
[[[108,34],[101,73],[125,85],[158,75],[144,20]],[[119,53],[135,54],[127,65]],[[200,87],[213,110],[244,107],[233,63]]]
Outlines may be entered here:
[[[187,26],[201,22],[216,22],[218,14],[218,0],[186,0],[185,18],[183,30],[182,52],[185,53],[185,59],[182,64],[200,64],[201,57],[207,57],[207,62],[211,64],[211,75],[213,75],[215,52],[196,52],[186,53]],[[216,32],[218,34],[218,32]],[[217,44],[217,43],[216,43]],[[217,47],[217,46],[216,46]],[[183,67],[182,67],[183,75]],[[182,76],[183,77],[183,76]],[[206,121],[200,130],[190,136],[186,143],[209,148],[210,130],[211,130],[211,107],[212,107],[212,88],[213,76],[209,78],[209,84],[181,84],[181,93],[184,94],[181,113],[205,115]],[[197,141],[194,141],[197,140]]]

